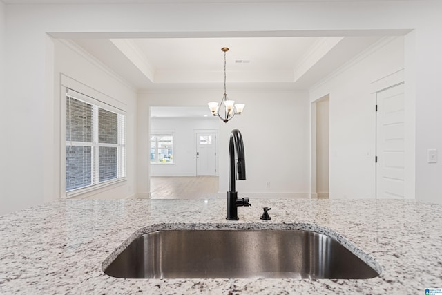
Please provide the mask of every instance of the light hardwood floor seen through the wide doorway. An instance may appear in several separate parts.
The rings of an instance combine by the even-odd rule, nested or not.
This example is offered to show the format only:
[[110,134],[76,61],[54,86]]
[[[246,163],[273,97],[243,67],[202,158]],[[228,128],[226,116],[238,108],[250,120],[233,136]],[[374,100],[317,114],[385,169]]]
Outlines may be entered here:
[[218,198],[218,176],[151,177],[151,198]]

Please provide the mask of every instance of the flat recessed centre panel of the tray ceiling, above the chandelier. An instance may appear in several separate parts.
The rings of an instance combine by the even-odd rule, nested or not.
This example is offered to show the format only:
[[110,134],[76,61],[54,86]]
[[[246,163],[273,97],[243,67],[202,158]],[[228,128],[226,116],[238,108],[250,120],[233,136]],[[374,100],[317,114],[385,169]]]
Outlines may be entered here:
[[[222,47],[227,52],[229,70],[271,70],[291,68],[314,44],[317,37],[298,38],[181,38],[134,39],[135,44],[160,71],[219,71],[224,64]],[[164,52],[166,50],[166,52]],[[249,64],[235,64],[236,60]]]

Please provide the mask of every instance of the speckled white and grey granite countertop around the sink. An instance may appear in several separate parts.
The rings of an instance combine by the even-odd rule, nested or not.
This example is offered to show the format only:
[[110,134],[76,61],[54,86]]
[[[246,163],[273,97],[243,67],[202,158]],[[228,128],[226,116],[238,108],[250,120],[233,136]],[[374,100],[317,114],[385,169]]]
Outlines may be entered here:
[[[442,288],[442,206],[403,200],[61,200],[0,216],[0,294],[425,294]],[[271,220],[260,220],[271,207]],[[318,227],[319,226],[319,227]],[[381,266],[366,280],[122,279],[102,263],[160,228],[331,229]],[[356,248],[354,248],[356,247]]]

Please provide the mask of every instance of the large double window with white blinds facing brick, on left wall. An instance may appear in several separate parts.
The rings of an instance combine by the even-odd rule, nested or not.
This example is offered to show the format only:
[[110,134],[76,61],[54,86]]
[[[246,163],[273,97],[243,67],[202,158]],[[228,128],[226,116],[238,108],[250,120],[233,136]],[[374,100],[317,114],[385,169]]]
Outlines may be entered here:
[[126,116],[85,97],[66,93],[66,192],[126,176]]

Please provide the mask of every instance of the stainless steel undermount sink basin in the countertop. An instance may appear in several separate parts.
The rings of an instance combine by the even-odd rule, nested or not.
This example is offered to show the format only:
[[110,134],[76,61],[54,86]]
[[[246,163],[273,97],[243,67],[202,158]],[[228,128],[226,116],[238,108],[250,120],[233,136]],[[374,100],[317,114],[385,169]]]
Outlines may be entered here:
[[300,230],[163,230],[104,269],[117,278],[373,278],[338,241]]

